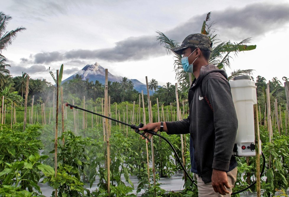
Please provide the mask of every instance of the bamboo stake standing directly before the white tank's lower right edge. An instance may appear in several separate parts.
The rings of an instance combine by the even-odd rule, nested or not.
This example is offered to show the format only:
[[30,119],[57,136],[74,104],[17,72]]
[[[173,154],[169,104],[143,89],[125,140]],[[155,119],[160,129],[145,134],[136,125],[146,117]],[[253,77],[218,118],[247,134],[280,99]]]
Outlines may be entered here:
[[[260,174],[260,153],[259,153],[259,147],[260,145],[260,134],[259,134],[259,124],[258,124],[258,108],[257,104],[254,104],[254,125],[255,125],[255,151],[256,151],[256,191],[257,191],[257,197],[261,196],[261,188],[260,188],[260,182],[261,178],[259,176]],[[263,164],[264,165],[264,164]]]

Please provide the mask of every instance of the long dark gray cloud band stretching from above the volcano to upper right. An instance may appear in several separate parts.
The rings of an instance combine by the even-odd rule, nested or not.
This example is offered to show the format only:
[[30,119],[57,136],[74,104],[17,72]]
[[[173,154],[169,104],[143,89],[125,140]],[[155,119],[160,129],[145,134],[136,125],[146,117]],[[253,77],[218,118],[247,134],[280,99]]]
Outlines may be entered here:
[[[188,22],[165,32],[169,38],[181,42],[187,35],[200,32],[206,13],[194,16]],[[226,9],[212,12],[213,28],[219,29],[222,38],[241,41],[247,37],[258,37],[281,28],[289,21],[289,4],[251,4],[241,9]],[[113,48],[97,50],[77,49],[67,52],[42,52],[34,56],[34,62],[51,63],[62,60],[97,59],[106,61],[142,60],[165,54],[165,49],[155,36],[129,37],[116,42]]]

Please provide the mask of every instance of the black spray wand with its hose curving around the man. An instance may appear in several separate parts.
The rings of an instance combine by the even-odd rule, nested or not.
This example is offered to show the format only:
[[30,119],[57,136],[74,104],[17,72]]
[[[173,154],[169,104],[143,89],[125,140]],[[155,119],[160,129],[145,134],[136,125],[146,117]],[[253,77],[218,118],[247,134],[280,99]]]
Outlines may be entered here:
[[[113,119],[113,118],[110,118],[110,117],[108,117],[108,116],[103,116],[102,114],[98,114],[98,113],[89,111],[89,110],[87,110],[87,109],[80,108],[80,107],[75,106],[75,105],[72,105],[72,104],[66,103],[66,106],[70,106],[70,109],[72,109],[72,108],[80,109],[80,110],[82,110],[82,111],[87,111],[87,112],[89,112],[89,113],[92,113],[92,114],[101,116],[101,117],[103,117],[103,118],[107,118],[107,119],[113,120],[113,121],[115,121],[115,122],[118,122],[118,123],[127,125],[127,126],[131,127],[132,129],[138,129],[138,128],[140,128],[140,127],[137,127],[137,126],[135,126],[135,125],[127,124],[127,123],[125,123],[125,122],[118,121],[118,120]],[[141,124],[140,124],[140,125],[141,125]],[[171,144],[171,142],[169,142],[168,139],[166,139],[165,137],[161,136],[160,134],[158,134],[158,133],[156,133],[156,132],[149,131],[149,130],[145,130],[144,132],[150,133],[150,134],[152,134],[152,135],[159,136],[159,137],[161,137],[162,139],[164,139],[164,140],[170,145],[170,147],[172,148],[173,152],[174,152],[175,155],[176,155],[176,158],[177,158],[178,162],[180,163],[182,169],[184,170],[184,173],[185,173],[185,174],[187,175],[187,177],[191,180],[191,182],[194,183],[194,185],[197,186],[197,184],[195,183],[195,181],[191,178],[191,176],[189,175],[189,173],[186,171],[184,165],[183,165],[182,162],[181,162],[180,157],[178,156],[178,154],[177,154],[175,148],[173,147],[173,145]],[[139,133],[139,134],[140,134],[140,133]],[[141,134],[141,135],[144,136],[144,134]],[[145,137],[145,136],[144,136],[144,137]],[[146,138],[147,138],[147,137],[146,137]],[[148,138],[147,138],[147,139],[148,139]],[[261,171],[261,173],[260,173],[260,177],[262,177],[262,175],[263,175],[263,173],[264,173],[264,169],[265,169],[265,156],[264,156],[264,154],[263,154],[262,151],[261,151],[261,153],[262,153],[262,157],[263,157],[263,167],[262,167],[262,171]],[[249,185],[248,187],[246,187],[246,188],[244,188],[244,189],[242,189],[242,190],[240,190],[240,191],[236,191],[236,192],[232,193],[231,195],[234,195],[234,194],[237,194],[237,193],[246,191],[247,189],[251,188],[251,187],[252,187],[253,185],[255,185],[255,184],[256,184],[256,180],[255,180],[251,185]]]

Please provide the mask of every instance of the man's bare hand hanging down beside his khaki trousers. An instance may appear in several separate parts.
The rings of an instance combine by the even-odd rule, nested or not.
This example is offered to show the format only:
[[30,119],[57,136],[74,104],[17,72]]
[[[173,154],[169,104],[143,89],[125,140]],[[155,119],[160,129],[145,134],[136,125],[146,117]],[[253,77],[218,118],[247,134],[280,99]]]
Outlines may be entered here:
[[222,170],[213,169],[212,186],[215,192],[220,193],[222,195],[226,195],[226,193],[230,193],[226,189],[226,188],[231,188],[230,184],[228,183],[227,173]]

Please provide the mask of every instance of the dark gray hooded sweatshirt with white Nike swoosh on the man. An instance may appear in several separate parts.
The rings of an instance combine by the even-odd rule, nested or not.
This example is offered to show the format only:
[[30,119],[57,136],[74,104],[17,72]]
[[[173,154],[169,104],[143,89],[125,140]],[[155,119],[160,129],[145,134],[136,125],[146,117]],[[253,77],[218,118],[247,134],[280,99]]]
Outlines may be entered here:
[[188,97],[188,118],[166,122],[167,133],[190,133],[191,171],[208,183],[212,169],[230,171],[237,166],[232,151],[238,120],[227,74],[215,65],[202,66]]

